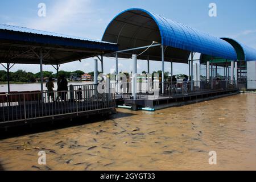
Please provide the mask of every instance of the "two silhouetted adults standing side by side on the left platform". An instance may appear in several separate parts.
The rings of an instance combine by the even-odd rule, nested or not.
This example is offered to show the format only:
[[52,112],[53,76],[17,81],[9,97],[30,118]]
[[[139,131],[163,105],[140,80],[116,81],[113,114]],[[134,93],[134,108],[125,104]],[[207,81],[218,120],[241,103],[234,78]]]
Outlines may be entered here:
[[48,78],[48,81],[46,83],[46,88],[48,90],[48,100],[51,97],[52,101],[55,102],[59,99],[66,101],[67,100],[67,93],[68,93],[68,81],[67,79],[62,75],[58,77],[57,79],[57,98],[55,100],[55,94],[53,92],[54,83],[51,77]]

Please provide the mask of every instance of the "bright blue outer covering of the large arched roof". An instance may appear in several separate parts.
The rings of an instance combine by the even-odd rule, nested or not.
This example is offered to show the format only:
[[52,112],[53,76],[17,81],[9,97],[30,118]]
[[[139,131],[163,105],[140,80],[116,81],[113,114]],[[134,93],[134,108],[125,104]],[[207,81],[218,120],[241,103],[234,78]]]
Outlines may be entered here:
[[[133,8],[122,11],[122,13],[115,16],[112,22],[119,15],[122,15],[127,11],[142,11],[150,15],[159,28],[162,44],[164,46],[204,53],[210,56],[222,57],[230,60],[237,60],[236,51],[228,42],[143,9]],[[109,23],[108,27],[112,22]]]

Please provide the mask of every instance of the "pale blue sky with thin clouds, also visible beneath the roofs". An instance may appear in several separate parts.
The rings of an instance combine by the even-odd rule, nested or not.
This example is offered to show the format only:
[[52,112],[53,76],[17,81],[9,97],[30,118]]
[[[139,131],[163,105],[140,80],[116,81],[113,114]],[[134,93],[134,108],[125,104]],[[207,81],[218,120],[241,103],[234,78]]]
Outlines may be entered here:
[[[38,16],[38,4],[46,4],[46,17]],[[208,15],[209,3],[216,3],[217,17]],[[131,7],[139,7],[193,28],[222,37],[228,36],[256,48],[255,0],[9,0],[0,2],[0,23],[36,28],[101,40],[106,26],[115,15]],[[105,58],[105,72],[115,61]],[[61,65],[62,70],[93,71],[93,58]],[[100,68],[100,65],[99,65]],[[146,70],[146,61],[138,61],[138,72]],[[151,61],[151,72],[160,70],[161,63]],[[3,69],[2,67],[0,69]],[[11,71],[25,69],[39,72],[39,65],[15,65]],[[55,71],[44,66],[46,71]],[[129,60],[119,60],[119,71],[130,71]],[[166,70],[170,71],[170,63]],[[188,74],[188,65],[174,64],[174,74]]]

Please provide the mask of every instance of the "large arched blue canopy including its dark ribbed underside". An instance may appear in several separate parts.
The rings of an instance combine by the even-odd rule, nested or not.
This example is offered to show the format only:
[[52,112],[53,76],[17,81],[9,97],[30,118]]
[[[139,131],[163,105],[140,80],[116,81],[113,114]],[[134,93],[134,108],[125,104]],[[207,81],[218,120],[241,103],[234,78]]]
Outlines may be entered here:
[[[115,16],[105,30],[103,41],[117,43],[119,50],[149,46],[158,42],[167,46],[164,61],[188,63],[189,54],[204,53],[210,56],[236,60],[234,48],[222,39],[210,36],[184,24],[174,22],[143,9],[129,9]],[[118,53],[118,57],[130,58],[130,53],[139,54],[137,49]],[[161,60],[159,47],[151,47],[138,59]]]

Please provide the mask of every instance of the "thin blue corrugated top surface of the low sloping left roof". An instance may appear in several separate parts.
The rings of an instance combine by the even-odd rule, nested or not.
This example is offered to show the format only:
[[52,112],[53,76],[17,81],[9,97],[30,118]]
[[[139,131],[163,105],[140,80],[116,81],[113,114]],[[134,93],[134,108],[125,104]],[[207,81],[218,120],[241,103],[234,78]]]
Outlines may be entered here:
[[[0,30],[26,32],[26,33],[29,33],[29,34],[48,35],[48,36],[55,36],[55,37],[59,37],[59,38],[85,40],[85,41],[98,42],[98,43],[108,43],[108,42],[104,42],[104,41],[100,41],[100,40],[80,38],[80,37],[72,36],[72,35],[58,34],[58,33],[55,33],[55,32],[48,32],[48,31],[36,30],[36,29],[32,29],[32,28],[19,27],[19,26],[13,26],[13,25],[8,25],[8,24],[1,24],[1,23],[0,23]],[[113,43],[108,43],[108,44],[113,44]]]

